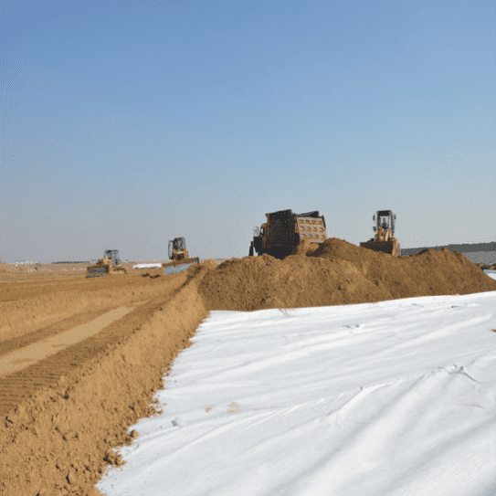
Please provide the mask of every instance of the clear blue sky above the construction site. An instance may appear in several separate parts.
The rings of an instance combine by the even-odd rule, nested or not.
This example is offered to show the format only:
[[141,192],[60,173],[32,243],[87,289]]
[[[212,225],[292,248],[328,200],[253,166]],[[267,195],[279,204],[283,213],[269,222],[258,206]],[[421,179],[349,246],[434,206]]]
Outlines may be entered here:
[[491,2],[3,4],[5,261],[244,257],[265,214],[496,239]]

